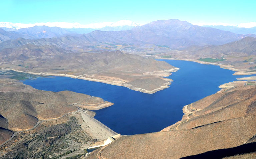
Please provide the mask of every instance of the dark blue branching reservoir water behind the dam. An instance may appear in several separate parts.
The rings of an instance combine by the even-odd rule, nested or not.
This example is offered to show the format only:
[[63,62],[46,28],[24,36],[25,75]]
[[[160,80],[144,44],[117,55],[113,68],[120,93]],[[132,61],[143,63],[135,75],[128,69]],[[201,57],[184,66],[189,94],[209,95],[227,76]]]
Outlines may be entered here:
[[68,77],[39,77],[24,84],[47,91],[70,90],[101,97],[114,103],[97,110],[95,118],[121,133],[132,135],[160,131],[182,118],[182,107],[220,90],[219,85],[236,80],[234,71],[219,66],[190,61],[162,60],[180,68],[169,78],[170,88],[154,94],[130,90],[126,87]]

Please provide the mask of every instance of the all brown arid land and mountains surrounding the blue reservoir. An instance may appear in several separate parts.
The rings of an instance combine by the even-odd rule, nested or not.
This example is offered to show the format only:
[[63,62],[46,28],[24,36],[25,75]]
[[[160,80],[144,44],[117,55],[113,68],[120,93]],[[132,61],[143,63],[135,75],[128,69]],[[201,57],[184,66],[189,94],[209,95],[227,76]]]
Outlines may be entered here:
[[161,132],[122,136],[89,156],[88,147],[117,134],[90,110],[113,103],[18,82],[65,76],[155,93],[169,87],[172,80],[165,77],[178,68],[154,58],[256,74],[256,35],[177,19],[88,34],[45,26],[16,31],[0,29],[0,158],[256,158],[254,76],[184,106],[182,119]]

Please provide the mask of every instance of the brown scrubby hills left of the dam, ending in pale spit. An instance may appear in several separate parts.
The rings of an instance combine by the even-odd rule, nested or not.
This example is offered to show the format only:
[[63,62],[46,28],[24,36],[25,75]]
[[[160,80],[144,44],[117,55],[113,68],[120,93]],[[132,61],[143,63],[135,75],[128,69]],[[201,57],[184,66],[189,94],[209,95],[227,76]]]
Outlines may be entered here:
[[[0,143],[12,135],[12,131],[32,128],[39,120],[48,120],[78,110],[76,106],[99,109],[113,103],[71,91],[51,92],[30,88],[17,80],[0,81]],[[12,89],[9,88],[12,85]],[[19,85],[24,85],[20,88]],[[8,89],[4,89],[7,86]],[[15,88],[18,87],[18,88]],[[20,89],[19,89],[20,88]],[[13,91],[15,90],[15,91]],[[24,92],[23,92],[24,91]],[[86,107],[87,108],[87,107]]]

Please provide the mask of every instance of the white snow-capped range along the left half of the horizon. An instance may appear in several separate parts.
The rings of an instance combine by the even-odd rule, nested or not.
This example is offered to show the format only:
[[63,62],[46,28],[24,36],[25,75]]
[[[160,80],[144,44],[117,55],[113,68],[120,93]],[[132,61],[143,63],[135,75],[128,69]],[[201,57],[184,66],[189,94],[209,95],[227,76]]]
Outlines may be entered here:
[[100,29],[104,27],[119,27],[119,26],[138,26],[130,20],[120,20],[118,22],[101,22],[92,24],[80,24],[80,23],[68,23],[68,22],[46,22],[46,23],[34,23],[34,24],[22,24],[22,23],[11,23],[11,22],[0,22],[0,27],[20,29],[29,28],[33,26],[49,26],[49,27],[60,27],[60,28],[91,28]]

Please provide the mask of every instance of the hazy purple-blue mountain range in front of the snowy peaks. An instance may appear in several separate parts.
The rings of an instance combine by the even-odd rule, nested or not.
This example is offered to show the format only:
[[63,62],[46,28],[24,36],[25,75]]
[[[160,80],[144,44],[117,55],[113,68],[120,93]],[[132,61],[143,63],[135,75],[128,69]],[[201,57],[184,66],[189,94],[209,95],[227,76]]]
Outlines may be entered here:
[[[122,30],[121,27],[105,27],[102,30]],[[127,28],[128,29],[128,28]],[[129,28],[130,29],[130,28]],[[222,45],[228,42],[240,40],[246,36],[255,37],[254,34],[243,35],[229,31],[222,31],[214,28],[200,27],[192,25],[186,21],[176,19],[155,21],[143,26],[136,26],[131,30],[122,31],[99,31],[95,30],[88,34],[76,34],[85,31],[82,28],[64,29],[58,27],[34,26],[23,28],[16,31],[1,30],[0,40],[6,41],[17,39],[40,39],[38,42],[25,40],[23,44],[35,45],[60,45],[65,39],[65,47],[75,46],[94,46],[99,43],[110,44],[133,44],[133,45],[163,45],[171,49],[184,48],[198,45]],[[41,38],[53,38],[44,39]],[[24,41],[24,40],[23,40]],[[51,41],[51,42],[49,42]],[[8,42],[12,43],[12,41]],[[17,45],[20,46],[21,44]],[[60,45],[63,47],[64,45]],[[2,48],[2,47],[1,47]],[[6,47],[5,47],[6,48]]]

